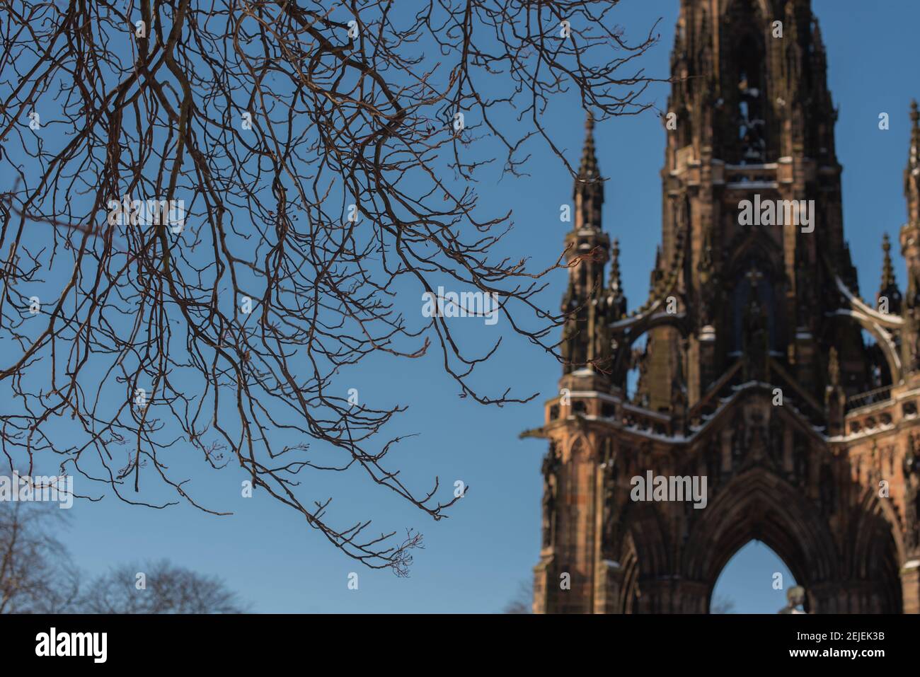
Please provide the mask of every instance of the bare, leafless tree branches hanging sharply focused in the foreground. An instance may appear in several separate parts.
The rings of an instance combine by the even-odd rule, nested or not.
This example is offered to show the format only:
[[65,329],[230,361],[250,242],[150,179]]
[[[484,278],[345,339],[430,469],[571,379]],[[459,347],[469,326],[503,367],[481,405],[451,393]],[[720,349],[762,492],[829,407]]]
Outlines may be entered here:
[[563,257],[490,257],[512,215],[483,213],[475,176],[521,174],[530,142],[574,176],[547,105],[647,109],[631,62],[656,37],[627,44],[608,3],[323,5],[5,5],[0,443],[11,466],[50,456],[129,503],[214,514],[176,459],[239,465],[403,575],[420,534],[334,525],[304,476],[356,468],[434,520],[456,498],[403,483],[383,429],[405,406],[355,404],[341,374],[434,350],[462,396],[534,396],[474,387],[500,338],[467,350],[414,316],[419,293],[494,295],[558,357],[563,317],[534,297]]

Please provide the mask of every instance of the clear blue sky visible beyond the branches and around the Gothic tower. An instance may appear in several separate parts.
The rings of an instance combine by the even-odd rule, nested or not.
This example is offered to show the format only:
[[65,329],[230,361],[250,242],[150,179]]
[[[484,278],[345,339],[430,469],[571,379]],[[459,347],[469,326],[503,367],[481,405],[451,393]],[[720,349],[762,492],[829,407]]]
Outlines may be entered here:
[[[871,296],[878,287],[881,235],[895,235],[905,217],[907,111],[910,99],[920,97],[915,69],[920,5],[914,0],[816,0],[813,5],[840,108],[836,138],[845,167],[845,235],[861,291]],[[677,0],[624,0],[615,10],[627,37],[635,39],[662,17],[661,42],[645,61],[650,75],[667,75],[677,7]],[[649,96],[664,108],[667,88],[657,87]],[[888,132],[878,130],[881,111],[891,115]],[[577,161],[581,110],[559,102],[548,116],[557,139]],[[610,178],[604,228],[620,239],[629,307],[634,308],[645,300],[661,237],[664,131],[650,112],[604,122],[595,133],[602,173]],[[558,210],[559,204],[570,201],[571,181],[557,161],[542,149],[533,150],[530,178],[505,178],[498,186],[483,180],[478,190],[485,211],[514,212],[516,227],[504,251],[513,258],[528,255],[540,268],[555,260],[562,246],[565,227],[558,221]],[[903,284],[900,257],[896,265]],[[546,304],[558,307],[564,288],[560,272]],[[419,304],[415,298],[406,303]],[[489,327],[477,320],[456,322],[473,342],[494,338],[479,334]],[[214,517],[185,505],[153,511],[109,496],[71,511],[66,543],[76,563],[90,573],[124,560],[168,557],[216,574],[258,612],[500,611],[520,581],[530,579],[539,545],[539,468],[546,443],[522,442],[517,436],[542,422],[542,401],[553,393],[559,373],[557,362],[518,340],[502,346],[480,379],[493,393],[512,386],[522,394],[541,394],[524,406],[481,407],[458,398],[435,354],[419,361],[375,360],[351,376],[354,383],[343,384],[343,391],[359,387],[364,401],[409,405],[390,430],[419,433],[391,454],[391,463],[403,468],[404,481],[421,489],[437,475],[449,486],[460,479],[470,487],[450,519],[435,523],[360,476],[307,478],[305,489],[316,491],[316,498],[336,495],[333,509],[339,523],[350,516],[373,516],[380,530],[420,529],[425,549],[417,552],[408,579],[355,564],[320,534],[306,529],[297,514],[258,493],[253,499],[241,498],[239,484],[245,477],[233,465],[208,471],[194,459],[176,458],[174,464],[188,465],[200,499],[235,511],[233,516]],[[735,602],[736,612],[775,613],[785,600],[784,592],[771,588],[777,570],[788,577],[764,545],[746,546],[719,580],[718,592]],[[360,575],[358,591],[348,590],[351,571]]]

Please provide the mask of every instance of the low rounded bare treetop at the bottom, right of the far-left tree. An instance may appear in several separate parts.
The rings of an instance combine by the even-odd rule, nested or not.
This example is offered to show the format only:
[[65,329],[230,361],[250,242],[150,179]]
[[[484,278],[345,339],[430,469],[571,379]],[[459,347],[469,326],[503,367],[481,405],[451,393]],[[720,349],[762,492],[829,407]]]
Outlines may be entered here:
[[[138,574],[144,588],[138,589]],[[221,579],[167,560],[123,564],[94,579],[81,595],[84,614],[243,614],[247,604]]]

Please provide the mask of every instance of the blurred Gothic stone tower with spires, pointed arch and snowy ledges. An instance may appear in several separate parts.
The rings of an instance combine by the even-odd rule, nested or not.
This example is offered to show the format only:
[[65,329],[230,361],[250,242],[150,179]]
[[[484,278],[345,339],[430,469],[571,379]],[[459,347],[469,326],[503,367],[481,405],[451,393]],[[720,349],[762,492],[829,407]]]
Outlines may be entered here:
[[755,538],[811,613],[920,613],[916,106],[906,293],[886,236],[867,302],[810,1],[683,0],[671,66],[661,247],[631,312],[588,120],[564,373],[545,424],[524,433],[549,442],[534,610],[706,613]]

